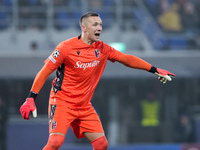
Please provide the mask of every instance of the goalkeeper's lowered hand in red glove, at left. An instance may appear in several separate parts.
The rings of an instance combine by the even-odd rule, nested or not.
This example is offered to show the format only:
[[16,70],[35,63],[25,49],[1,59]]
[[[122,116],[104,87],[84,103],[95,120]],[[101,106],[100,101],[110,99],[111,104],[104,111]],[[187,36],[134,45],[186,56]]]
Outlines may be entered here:
[[37,109],[35,107],[34,98],[32,97],[27,98],[20,108],[21,115],[26,120],[30,119],[29,118],[30,111],[32,111],[34,118],[37,117]]

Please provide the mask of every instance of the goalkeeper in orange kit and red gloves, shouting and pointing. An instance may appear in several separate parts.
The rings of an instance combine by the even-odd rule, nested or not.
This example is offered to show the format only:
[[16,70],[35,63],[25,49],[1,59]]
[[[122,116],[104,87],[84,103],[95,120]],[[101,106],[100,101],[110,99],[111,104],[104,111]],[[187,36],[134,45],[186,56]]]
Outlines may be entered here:
[[100,41],[102,20],[98,14],[84,14],[80,26],[80,36],[61,42],[45,60],[20,108],[24,119],[29,120],[30,112],[37,117],[35,99],[48,76],[56,70],[49,97],[49,139],[43,150],[58,150],[69,126],[77,138],[86,137],[94,150],[107,150],[108,142],[101,121],[90,102],[107,60],[151,72],[163,83],[175,77]]

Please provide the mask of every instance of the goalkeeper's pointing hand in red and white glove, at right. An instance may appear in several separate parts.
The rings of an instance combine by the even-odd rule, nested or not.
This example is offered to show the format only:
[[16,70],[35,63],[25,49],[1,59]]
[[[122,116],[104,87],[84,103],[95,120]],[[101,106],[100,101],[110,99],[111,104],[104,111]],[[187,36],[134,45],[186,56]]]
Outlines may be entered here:
[[156,72],[155,72],[154,74],[157,75],[157,76],[158,76],[158,79],[160,80],[160,82],[162,82],[162,83],[164,83],[164,84],[165,84],[167,81],[171,81],[171,80],[172,80],[171,77],[173,77],[173,78],[176,77],[175,74],[173,74],[173,73],[171,73],[171,72],[169,72],[169,71],[167,71],[167,70],[160,69],[160,68],[157,68],[157,69],[156,69]]

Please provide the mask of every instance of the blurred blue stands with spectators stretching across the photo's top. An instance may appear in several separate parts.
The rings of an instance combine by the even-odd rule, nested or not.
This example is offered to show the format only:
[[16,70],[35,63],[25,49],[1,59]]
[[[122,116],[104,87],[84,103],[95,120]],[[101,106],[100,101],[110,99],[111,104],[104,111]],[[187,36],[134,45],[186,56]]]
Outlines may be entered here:
[[[117,24],[122,32],[124,29],[138,30],[142,26],[136,21],[134,14],[134,10],[137,10],[135,8],[139,6],[138,2],[141,1],[0,0],[0,31],[11,26],[19,30],[27,28],[43,30],[48,27],[57,30],[69,29],[70,27],[79,29],[77,20],[86,11],[99,13],[103,20],[104,29],[111,29],[113,25]],[[173,40],[164,40],[164,46],[161,48],[158,46],[159,49],[200,48],[199,0],[143,0],[142,2],[164,34],[180,35],[178,38],[172,38]],[[153,29],[148,27],[145,34],[148,34],[150,30]],[[173,43],[175,46],[168,46],[173,45]],[[153,46],[157,49],[155,44]]]

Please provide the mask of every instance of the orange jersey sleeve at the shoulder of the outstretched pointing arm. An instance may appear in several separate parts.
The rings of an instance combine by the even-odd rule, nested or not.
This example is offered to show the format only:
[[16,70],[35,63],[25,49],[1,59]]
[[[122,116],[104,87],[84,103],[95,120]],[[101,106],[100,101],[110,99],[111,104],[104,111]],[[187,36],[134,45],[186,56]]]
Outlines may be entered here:
[[108,60],[110,60],[111,62],[115,62],[119,59],[121,52],[114,49],[113,47],[105,44],[106,49],[108,49]]

